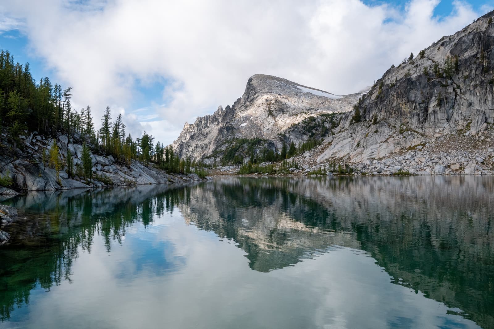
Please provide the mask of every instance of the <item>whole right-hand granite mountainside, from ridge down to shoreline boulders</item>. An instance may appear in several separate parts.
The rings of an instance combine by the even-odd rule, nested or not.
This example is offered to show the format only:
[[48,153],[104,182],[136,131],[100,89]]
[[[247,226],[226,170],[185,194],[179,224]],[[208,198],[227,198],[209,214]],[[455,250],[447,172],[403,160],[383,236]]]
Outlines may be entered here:
[[[493,12],[388,69],[341,121],[317,163],[341,159],[389,173],[493,169]],[[387,160],[387,164],[383,163]]]

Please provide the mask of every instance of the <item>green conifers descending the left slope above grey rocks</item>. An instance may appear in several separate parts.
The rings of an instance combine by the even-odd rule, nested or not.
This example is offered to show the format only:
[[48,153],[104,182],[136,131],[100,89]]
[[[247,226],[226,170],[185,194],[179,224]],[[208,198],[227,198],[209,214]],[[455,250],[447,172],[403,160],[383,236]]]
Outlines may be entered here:
[[[112,155],[122,165],[130,166],[132,161],[138,160],[181,173],[191,172],[191,168],[198,165],[190,158],[180,159],[171,145],[165,147],[159,141],[154,144],[155,138],[146,132],[134,139],[125,132],[122,114],[113,121],[108,106],[101,118],[101,128],[95,129],[91,107],[74,108],[72,96],[72,87],[63,89],[59,84],[53,85],[48,77],[37,81],[29,63],[14,63],[14,56],[8,50],[0,51],[0,141],[6,132],[14,150],[20,142],[19,136],[26,130],[46,135],[58,131],[69,139],[82,139],[83,147],[87,147],[84,154],[90,146],[93,152]],[[84,169],[88,170],[90,167]]]

